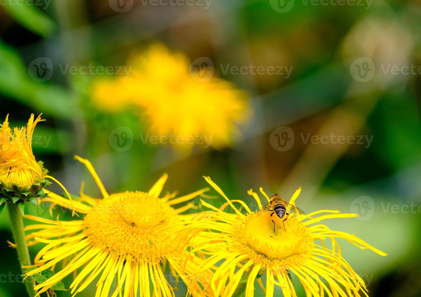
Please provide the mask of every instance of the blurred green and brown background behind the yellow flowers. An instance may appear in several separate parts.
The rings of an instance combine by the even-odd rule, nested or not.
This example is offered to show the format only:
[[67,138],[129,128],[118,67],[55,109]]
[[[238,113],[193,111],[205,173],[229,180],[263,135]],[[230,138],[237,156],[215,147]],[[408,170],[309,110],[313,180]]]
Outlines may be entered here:
[[[370,296],[421,296],[419,2],[171,3],[1,0],[0,119],[9,114],[11,126],[23,126],[31,113],[43,112],[46,121],[35,130],[34,154],[72,193],[79,193],[85,180],[85,193],[99,195],[74,154],[91,160],[110,193],[148,190],[163,172],[169,174],[164,190],[190,193],[205,187],[202,176],[209,175],[228,197],[247,202],[250,188],[288,198],[302,186],[298,207],[306,213],[359,213],[359,218],[327,225],[389,254],[380,257],[341,242]],[[107,75],[60,71],[66,64],[126,65],[133,51],[157,42],[190,61],[210,59],[215,77],[250,94],[253,114],[238,126],[242,136],[230,147],[186,153],[171,144],[144,144],[138,135],[149,130],[141,115],[104,112],[92,104],[93,82]],[[40,57],[53,64],[45,81],[34,76]],[[292,71],[289,77],[222,71],[250,64]],[[201,94],[196,100],[206,104]],[[128,150],[116,150],[110,141],[119,127],[133,131]],[[363,138],[360,143],[317,142],[324,135]],[[61,191],[56,185],[51,189]],[[221,202],[213,200],[216,206]],[[47,207],[40,211],[48,217]],[[16,251],[6,242],[13,240],[7,211],[0,217],[0,234],[0,296],[24,296]],[[39,249],[30,247],[32,257]],[[93,292],[89,286],[80,296]],[[185,292],[180,286],[179,295]],[[257,296],[262,294],[256,289]],[[279,290],[275,294],[282,296]],[[300,289],[298,296],[304,296]]]

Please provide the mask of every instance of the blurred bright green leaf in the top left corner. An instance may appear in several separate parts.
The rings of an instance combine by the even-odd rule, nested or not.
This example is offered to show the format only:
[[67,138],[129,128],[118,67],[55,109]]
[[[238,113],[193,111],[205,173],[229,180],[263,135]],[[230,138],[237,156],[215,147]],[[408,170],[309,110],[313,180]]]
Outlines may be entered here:
[[5,11],[30,31],[45,37],[56,29],[53,20],[35,5],[28,5],[26,1],[20,2],[19,0],[8,0],[4,3],[6,3],[3,6]]

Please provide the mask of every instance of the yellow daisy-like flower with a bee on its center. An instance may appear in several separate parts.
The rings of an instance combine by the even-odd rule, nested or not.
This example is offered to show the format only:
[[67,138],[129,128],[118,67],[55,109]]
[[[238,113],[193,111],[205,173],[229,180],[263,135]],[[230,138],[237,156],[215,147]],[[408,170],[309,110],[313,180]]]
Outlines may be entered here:
[[[213,211],[200,214],[197,219],[202,225],[195,224],[190,230],[191,233],[196,232],[191,253],[210,255],[203,262],[202,269],[215,267],[216,263],[224,261],[219,267],[213,268],[215,272],[211,287],[215,297],[233,296],[239,292],[245,292],[246,297],[253,296],[255,280],[266,292],[266,297],[274,296],[275,286],[282,289],[285,297],[296,296],[290,273],[304,286],[307,297],[325,294],[330,297],[359,297],[360,290],[367,296],[364,281],[342,257],[336,239],[343,238],[381,256],[387,254],[354,235],[330,230],[326,225],[319,224],[324,219],[357,217],[357,214],[339,214],[336,210],[314,211],[307,215],[290,214],[284,221],[284,229],[280,218],[270,216],[272,211],[253,212],[243,201],[229,200],[209,177],[205,179],[227,202],[217,209],[202,201]],[[262,189],[260,191],[269,202],[268,195]],[[294,193],[290,204],[295,206],[300,192],[301,188]],[[262,209],[257,193],[250,189],[248,194],[255,198],[259,209]],[[234,206],[235,202],[240,203],[247,214],[242,214]],[[235,213],[226,213],[224,209],[227,206]],[[316,217],[322,213],[328,214]],[[195,231],[199,227],[202,230]],[[205,229],[211,232],[205,232]],[[331,248],[325,243],[327,238],[331,241]],[[261,279],[264,274],[266,286]]]

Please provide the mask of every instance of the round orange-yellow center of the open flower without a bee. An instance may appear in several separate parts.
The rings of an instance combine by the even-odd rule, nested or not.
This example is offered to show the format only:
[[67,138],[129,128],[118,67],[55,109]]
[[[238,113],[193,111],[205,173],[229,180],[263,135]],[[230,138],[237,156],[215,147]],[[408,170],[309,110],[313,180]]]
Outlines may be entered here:
[[183,248],[176,236],[179,222],[176,211],[163,199],[144,192],[124,192],[94,206],[85,216],[83,232],[94,246],[110,254],[156,263]]

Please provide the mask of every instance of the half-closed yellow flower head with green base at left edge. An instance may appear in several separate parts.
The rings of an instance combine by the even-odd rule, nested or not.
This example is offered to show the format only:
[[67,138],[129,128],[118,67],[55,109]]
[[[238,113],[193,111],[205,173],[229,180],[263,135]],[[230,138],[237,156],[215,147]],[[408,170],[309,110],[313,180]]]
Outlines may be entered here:
[[[47,175],[43,162],[37,162],[32,153],[32,135],[37,123],[43,121],[41,115],[34,120],[34,114],[31,114],[27,126],[13,130],[8,118],[9,115],[3,125],[0,124],[0,213],[4,202],[10,201],[16,203],[24,214],[25,201],[37,204],[37,198],[44,197],[43,188],[51,185],[46,178],[62,185]],[[67,193],[66,189],[64,191]]]

